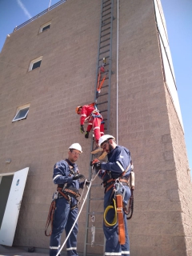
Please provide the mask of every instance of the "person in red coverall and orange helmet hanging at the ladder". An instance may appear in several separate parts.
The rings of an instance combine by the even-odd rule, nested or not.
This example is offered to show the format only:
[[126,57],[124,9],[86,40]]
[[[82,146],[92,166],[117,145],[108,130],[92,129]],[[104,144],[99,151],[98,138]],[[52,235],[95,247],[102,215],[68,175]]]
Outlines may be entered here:
[[104,124],[102,115],[93,105],[94,104],[78,106],[76,108],[76,113],[81,114],[80,130],[82,133],[85,132],[84,123],[86,120],[88,121],[85,138],[89,138],[90,130],[92,129],[92,127],[94,128],[94,140],[96,142],[96,147],[91,152],[91,154],[97,154],[99,151],[102,151],[102,149],[98,146],[98,140],[104,134]]

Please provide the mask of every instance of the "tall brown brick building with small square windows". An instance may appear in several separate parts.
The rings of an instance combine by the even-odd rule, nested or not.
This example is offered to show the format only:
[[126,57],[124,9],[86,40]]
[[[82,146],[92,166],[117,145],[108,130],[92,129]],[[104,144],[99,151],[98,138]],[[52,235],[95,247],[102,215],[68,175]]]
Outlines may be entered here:
[[[130,255],[189,256],[192,186],[161,4],[120,0],[118,8],[114,0],[113,15],[110,134],[117,137],[118,130],[118,144],[130,149],[136,176]],[[14,31],[2,48],[0,59],[10,64],[0,62],[1,181],[30,168],[14,246],[49,247],[44,229],[53,166],[73,142],[82,145],[78,166],[89,176],[91,139],[80,134],[74,110],[94,101],[100,18],[101,1],[68,0]],[[18,110],[29,112],[12,122]],[[97,207],[102,211],[102,202]],[[86,206],[79,253],[85,251],[85,223]],[[96,225],[101,223],[102,215]],[[102,231],[95,235],[103,240]],[[102,250],[94,246],[87,253]]]

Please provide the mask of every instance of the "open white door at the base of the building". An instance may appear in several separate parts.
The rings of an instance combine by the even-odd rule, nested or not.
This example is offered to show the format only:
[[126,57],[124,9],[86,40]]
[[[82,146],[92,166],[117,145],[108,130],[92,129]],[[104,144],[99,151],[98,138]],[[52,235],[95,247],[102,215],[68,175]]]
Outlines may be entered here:
[[10,187],[9,198],[6,203],[5,214],[2,218],[0,228],[0,244],[12,246],[14,233],[18,222],[18,214],[22,203],[22,194],[26,186],[26,178],[29,167],[18,170],[14,173],[14,178]]

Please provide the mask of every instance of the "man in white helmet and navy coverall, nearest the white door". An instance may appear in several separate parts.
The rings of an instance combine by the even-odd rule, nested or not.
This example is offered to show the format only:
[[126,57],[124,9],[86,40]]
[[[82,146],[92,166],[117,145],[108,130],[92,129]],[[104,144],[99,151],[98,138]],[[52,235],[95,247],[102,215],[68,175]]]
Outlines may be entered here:
[[[85,177],[79,173],[75,162],[81,153],[82,146],[74,143],[69,147],[68,158],[54,165],[54,184],[58,184],[58,191],[62,191],[63,195],[58,193],[58,197],[55,200],[56,210],[54,212],[53,230],[50,236],[50,256],[58,254],[62,231],[65,229],[67,236],[78,216],[78,189],[83,188],[85,183],[85,181],[79,182],[79,180]],[[78,255],[77,235],[78,223],[76,222],[66,242],[68,256]]]

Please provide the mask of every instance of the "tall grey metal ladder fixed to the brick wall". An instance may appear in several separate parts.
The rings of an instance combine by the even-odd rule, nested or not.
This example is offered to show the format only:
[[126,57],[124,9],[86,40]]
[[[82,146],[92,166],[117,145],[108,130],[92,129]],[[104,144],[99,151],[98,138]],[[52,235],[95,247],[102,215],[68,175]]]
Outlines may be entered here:
[[[95,82],[95,100],[98,110],[102,114],[105,122],[105,134],[110,131],[110,81],[111,74],[111,62],[112,62],[112,31],[113,31],[113,16],[114,0],[102,0],[101,6],[101,20],[99,30],[99,42],[98,42],[98,62],[96,70],[96,82]],[[105,72],[99,72],[101,67],[104,67]],[[98,92],[98,84],[101,84],[103,77],[106,75],[106,79],[103,82],[101,91]],[[94,149],[94,140],[92,141],[92,150]],[[90,161],[97,155],[91,155]],[[92,178],[92,169],[90,167],[89,178]],[[97,253],[104,254],[105,242],[104,234],[102,231],[103,220],[103,194],[104,190],[101,190],[101,182],[99,178],[96,178],[94,184],[90,188],[90,193],[86,202],[86,235],[84,242],[83,256],[87,253],[95,253],[94,246],[97,246]],[[98,211],[101,210],[100,212]],[[95,232],[95,233],[94,233]],[[100,249],[99,249],[100,248]]]

